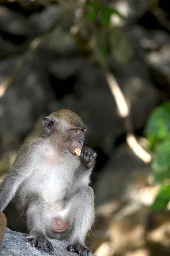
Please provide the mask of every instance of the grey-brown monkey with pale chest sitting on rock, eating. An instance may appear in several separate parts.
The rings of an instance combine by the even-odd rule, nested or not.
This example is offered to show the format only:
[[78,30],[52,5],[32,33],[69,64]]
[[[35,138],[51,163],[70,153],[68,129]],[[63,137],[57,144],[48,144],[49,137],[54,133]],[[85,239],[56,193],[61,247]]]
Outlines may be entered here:
[[68,238],[68,251],[89,256],[85,237],[95,219],[90,177],[96,152],[83,144],[87,126],[67,109],[44,117],[42,125],[21,145],[0,184],[0,210],[15,198],[28,228],[26,241],[38,250],[54,253],[48,238]]

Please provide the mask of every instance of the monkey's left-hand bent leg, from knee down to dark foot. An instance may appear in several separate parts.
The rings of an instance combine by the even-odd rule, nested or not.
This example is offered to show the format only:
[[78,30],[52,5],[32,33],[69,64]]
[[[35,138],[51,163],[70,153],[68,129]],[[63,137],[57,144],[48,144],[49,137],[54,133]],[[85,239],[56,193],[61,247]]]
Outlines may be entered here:
[[54,253],[54,247],[45,236],[45,224],[48,224],[47,209],[45,202],[39,196],[33,196],[28,205],[26,212],[27,227],[30,233],[27,242],[31,246],[37,247],[38,250],[49,248],[51,253]]

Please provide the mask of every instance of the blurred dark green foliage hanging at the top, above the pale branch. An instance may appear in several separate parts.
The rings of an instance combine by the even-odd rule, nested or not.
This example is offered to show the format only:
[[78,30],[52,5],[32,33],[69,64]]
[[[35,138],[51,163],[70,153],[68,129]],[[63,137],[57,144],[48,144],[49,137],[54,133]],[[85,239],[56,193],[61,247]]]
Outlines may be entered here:
[[[82,13],[82,17],[77,19],[77,34],[74,35],[82,54],[101,62],[109,56],[117,64],[129,61],[133,49],[121,27],[124,17],[99,1],[87,1],[82,6]],[[111,19],[112,15],[118,18],[118,24]]]

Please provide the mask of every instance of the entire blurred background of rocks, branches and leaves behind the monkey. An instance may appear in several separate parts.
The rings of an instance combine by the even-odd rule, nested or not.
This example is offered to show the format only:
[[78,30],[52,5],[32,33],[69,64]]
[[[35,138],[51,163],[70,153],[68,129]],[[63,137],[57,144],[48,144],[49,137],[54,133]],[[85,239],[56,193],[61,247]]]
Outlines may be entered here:
[[170,1],[0,0],[0,179],[43,116],[76,112],[98,154],[98,256],[170,253],[169,98]]

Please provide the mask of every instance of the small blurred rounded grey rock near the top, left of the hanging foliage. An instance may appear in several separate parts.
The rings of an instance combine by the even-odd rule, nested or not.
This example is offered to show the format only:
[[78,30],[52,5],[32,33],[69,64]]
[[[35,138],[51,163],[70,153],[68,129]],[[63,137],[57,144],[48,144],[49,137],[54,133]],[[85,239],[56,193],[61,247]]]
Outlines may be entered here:
[[41,12],[33,13],[28,18],[28,23],[35,34],[43,34],[51,30],[60,20],[61,10],[57,5],[49,6]]

